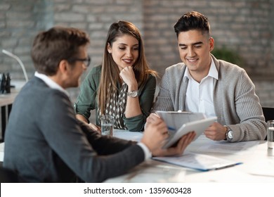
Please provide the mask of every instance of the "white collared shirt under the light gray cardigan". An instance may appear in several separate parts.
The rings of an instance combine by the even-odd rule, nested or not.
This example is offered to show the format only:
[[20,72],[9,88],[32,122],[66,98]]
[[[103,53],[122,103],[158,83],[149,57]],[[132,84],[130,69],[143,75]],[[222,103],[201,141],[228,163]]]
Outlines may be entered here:
[[191,112],[204,113],[207,117],[216,116],[213,103],[214,78],[218,80],[218,71],[211,58],[209,74],[200,83],[190,75],[188,68],[183,76],[184,82],[188,78],[188,88],[185,96],[185,109]]

